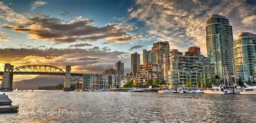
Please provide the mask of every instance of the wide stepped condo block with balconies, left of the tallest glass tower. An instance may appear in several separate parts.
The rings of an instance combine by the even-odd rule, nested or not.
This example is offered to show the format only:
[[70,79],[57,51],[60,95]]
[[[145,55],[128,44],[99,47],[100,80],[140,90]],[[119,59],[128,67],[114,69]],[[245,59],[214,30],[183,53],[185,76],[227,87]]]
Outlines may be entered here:
[[205,73],[210,75],[210,59],[203,55],[184,55],[173,49],[166,53],[164,62],[165,80],[169,87],[185,87],[187,78],[191,81],[191,87],[197,87],[198,77],[203,83]]

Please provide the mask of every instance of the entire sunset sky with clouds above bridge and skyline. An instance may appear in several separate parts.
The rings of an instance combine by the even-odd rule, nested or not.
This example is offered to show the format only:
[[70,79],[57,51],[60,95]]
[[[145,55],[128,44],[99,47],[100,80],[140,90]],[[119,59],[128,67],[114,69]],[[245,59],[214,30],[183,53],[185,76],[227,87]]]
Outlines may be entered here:
[[207,17],[227,17],[235,38],[256,33],[255,13],[254,0],[0,0],[0,70],[48,64],[102,73],[121,60],[130,72],[130,54],[161,41],[181,52],[198,46],[206,56]]

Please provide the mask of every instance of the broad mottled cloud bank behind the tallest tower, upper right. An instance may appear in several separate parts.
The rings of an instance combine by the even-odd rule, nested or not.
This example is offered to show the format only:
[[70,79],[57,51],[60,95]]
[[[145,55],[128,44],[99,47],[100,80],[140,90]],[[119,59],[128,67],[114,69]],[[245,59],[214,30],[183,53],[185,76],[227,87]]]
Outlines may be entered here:
[[[148,40],[168,40],[171,49],[186,51],[199,46],[206,54],[206,19],[212,14],[226,16],[238,32],[255,33],[255,5],[246,1],[143,1],[127,10],[130,19],[145,23]],[[253,23],[254,22],[254,23]],[[248,24],[250,26],[248,26]]]

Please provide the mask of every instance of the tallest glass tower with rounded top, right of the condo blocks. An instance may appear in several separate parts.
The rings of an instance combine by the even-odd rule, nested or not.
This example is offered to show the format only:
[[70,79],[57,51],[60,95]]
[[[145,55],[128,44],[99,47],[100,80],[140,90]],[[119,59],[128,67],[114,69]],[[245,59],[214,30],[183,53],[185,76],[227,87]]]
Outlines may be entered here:
[[206,25],[207,57],[214,64],[215,74],[223,77],[223,66],[233,75],[233,31],[229,20],[211,15]]

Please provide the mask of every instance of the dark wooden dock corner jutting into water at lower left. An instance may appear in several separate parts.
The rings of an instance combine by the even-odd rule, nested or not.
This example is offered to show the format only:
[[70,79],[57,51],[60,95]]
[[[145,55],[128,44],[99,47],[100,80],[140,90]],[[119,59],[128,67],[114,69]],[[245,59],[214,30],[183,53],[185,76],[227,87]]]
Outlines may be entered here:
[[0,94],[0,113],[15,113],[19,111],[19,105],[11,105],[12,101],[8,95]]

